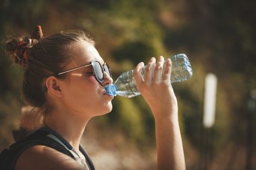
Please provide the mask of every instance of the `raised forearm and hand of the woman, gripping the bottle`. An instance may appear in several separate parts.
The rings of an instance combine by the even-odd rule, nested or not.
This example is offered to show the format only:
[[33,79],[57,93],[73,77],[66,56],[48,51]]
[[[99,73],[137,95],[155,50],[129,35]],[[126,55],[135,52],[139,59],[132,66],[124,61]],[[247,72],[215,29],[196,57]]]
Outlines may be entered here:
[[140,74],[143,63],[134,70],[136,84],[155,117],[158,169],[186,169],[182,138],[178,124],[178,105],[171,86],[171,60],[152,58],[145,77]]

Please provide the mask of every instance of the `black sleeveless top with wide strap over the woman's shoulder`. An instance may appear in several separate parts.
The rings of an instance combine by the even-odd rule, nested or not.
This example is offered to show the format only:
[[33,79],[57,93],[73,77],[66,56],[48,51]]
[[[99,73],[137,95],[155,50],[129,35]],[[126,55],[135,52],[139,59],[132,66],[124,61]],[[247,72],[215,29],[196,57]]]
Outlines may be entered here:
[[23,151],[28,147],[36,145],[52,147],[53,149],[70,156],[76,160],[76,162],[83,165],[85,169],[95,169],[91,158],[81,145],[79,149],[83,156],[85,156],[85,160],[78,155],[75,149],[69,144],[69,142],[67,142],[67,140],[65,140],[65,138],[61,137],[61,135],[48,127],[37,129],[28,135],[28,137],[12,144],[9,149],[4,149],[0,155],[0,169],[14,170],[19,155],[21,155],[21,153],[23,153]]

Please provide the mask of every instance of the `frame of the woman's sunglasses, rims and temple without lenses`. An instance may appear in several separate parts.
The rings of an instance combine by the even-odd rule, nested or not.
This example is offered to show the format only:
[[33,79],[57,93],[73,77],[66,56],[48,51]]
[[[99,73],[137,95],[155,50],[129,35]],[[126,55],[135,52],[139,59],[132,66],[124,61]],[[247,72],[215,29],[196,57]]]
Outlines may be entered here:
[[[69,70],[65,70],[65,71],[56,73],[56,74],[54,74],[54,75],[55,75],[55,76],[63,75],[63,74],[65,74],[65,73],[69,73],[70,71],[78,70],[78,69],[80,69],[80,68],[85,68],[85,67],[87,67],[87,66],[92,66],[94,77],[95,77],[95,79],[96,79],[98,82],[100,82],[100,83],[101,83],[101,82],[104,82],[104,80],[105,80],[105,74],[104,74],[104,72],[109,73],[109,76],[112,77],[111,69],[109,68],[109,65],[108,65],[107,63],[104,63],[103,65],[100,64],[101,73],[102,73],[102,75],[103,75],[102,79],[100,79],[100,77],[98,77],[98,75],[96,74],[96,71],[95,71],[95,63],[96,63],[96,62],[98,62],[98,64],[100,64],[99,61],[91,61],[91,62],[89,62],[89,63],[87,63],[87,64],[82,65],[82,66],[78,66],[78,67],[76,67],[76,68],[71,68],[71,69],[69,69]],[[107,70],[108,70],[108,71],[105,70],[105,66],[107,66]]]

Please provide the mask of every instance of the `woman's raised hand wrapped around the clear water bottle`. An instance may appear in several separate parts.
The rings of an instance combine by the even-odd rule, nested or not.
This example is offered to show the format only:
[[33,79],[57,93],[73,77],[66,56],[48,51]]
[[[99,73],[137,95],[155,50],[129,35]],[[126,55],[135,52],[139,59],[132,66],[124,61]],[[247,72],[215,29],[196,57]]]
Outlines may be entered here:
[[173,87],[171,86],[171,59],[167,59],[164,66],[164,57],[156,62],[153,57],[145,68],[145,77],[141,70],[144,63],[140,62],[134,69],[134,79],[138,90],[153,111],[155,118],[166,118],[177,115],[178,106]]

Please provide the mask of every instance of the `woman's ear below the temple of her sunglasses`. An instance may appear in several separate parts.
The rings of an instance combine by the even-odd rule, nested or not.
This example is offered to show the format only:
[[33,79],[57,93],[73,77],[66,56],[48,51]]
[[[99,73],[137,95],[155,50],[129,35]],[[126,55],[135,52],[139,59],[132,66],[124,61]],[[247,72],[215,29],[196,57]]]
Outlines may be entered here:
[[45,81],[45,86],[47,86],[47,92],[55,97],[63,97],[63,93],[61,91],[61,82],[54,76],[50,76]]

